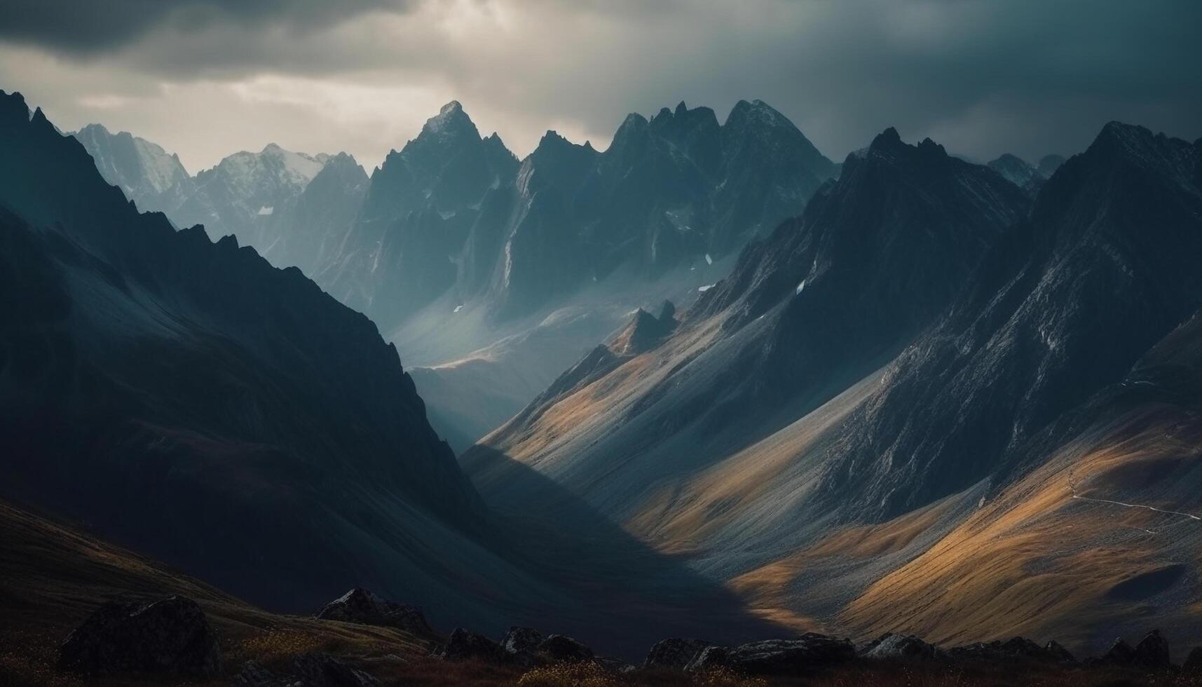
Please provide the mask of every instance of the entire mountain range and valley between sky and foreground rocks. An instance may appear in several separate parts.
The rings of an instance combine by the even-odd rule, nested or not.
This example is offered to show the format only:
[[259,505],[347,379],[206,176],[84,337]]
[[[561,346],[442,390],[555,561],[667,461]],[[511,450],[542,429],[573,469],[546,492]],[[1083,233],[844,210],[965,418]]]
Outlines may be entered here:
[[[161,149],[88,128],[93,167],[6,102],[10,498],[263,603],[404,581],[612,646],[1202,630],[1200,142],[976,165],[887,129],[837,165],[744,101],[518,160],[451,102],[370,177],[272,146],[185,173],[168,223],[96,174],[155,197]],[[166,517],[112,505],[145,493]],[[218,541],[216,504],[258,529]],[[255,568],[206,567],[244,537]],[[246,581],[300,538],[338,564]]]

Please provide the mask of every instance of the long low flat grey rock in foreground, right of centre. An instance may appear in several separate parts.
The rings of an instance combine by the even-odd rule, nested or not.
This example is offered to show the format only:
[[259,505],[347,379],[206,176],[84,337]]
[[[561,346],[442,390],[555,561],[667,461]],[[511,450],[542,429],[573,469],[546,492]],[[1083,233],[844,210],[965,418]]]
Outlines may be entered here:
[[744,675],[808,675],[856,658],[846,639],[807,633],[798,639],[770,639],[736,647],[707,646],[688,670],[728,668]]

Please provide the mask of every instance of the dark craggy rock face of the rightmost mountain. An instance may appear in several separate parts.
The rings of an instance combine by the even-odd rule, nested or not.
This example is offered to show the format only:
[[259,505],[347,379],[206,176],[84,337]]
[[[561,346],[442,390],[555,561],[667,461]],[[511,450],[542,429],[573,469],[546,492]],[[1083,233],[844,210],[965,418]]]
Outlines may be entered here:
[[1196,144],[1107,125],[894,362],[849,426],[838,481],[893,514],[1004,482],[1017,446],[1120,380],[1202,298],[1200,159]]

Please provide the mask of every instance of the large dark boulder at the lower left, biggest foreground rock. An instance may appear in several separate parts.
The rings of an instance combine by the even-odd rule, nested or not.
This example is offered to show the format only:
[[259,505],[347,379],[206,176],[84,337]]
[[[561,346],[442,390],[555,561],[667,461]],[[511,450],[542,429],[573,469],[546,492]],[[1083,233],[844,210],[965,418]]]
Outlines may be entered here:
[[59,668],[87,675],[150,673],[213,677],[221,651],[192,599],[106,604],[67,636]]

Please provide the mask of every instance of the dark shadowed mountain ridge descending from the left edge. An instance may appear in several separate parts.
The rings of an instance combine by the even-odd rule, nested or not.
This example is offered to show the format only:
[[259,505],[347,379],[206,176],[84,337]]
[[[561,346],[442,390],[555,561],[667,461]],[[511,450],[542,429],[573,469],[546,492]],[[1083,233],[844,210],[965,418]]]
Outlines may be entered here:
[[0,137],[7,497],[273,608],[371,579],[478,614],[448,567],[520,578],[367,318],[139,214],[19,95]]

